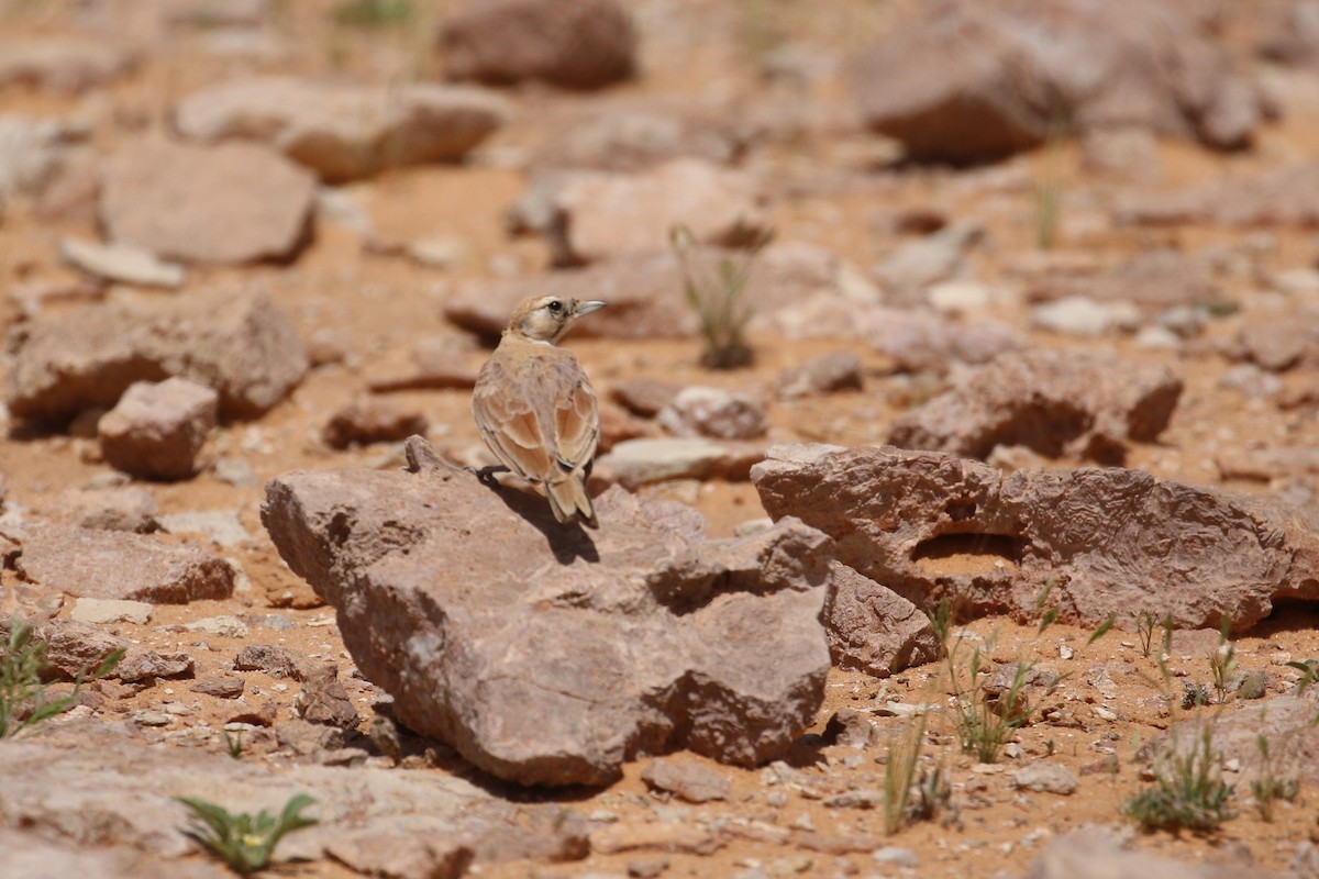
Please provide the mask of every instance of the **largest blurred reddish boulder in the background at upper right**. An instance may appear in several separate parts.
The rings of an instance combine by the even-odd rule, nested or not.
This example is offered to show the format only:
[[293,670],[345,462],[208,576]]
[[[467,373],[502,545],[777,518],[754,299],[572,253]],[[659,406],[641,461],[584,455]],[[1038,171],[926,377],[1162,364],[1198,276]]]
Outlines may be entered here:
[[857,80],[869,127],[921,159],[993,159],[1043,144],[1060,121],[1239,149],[1264,119],[1216,41],[1145,0],[922,4],[861,57]]

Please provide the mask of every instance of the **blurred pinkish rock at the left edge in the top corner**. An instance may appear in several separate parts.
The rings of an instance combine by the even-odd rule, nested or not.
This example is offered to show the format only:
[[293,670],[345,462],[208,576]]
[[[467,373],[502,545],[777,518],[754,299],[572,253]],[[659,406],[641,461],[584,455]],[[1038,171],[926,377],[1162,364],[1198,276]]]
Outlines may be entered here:
[[0,88],[36,86],[79,94],[129,72],[132,53],[100,40],[28,37],[0,43]]

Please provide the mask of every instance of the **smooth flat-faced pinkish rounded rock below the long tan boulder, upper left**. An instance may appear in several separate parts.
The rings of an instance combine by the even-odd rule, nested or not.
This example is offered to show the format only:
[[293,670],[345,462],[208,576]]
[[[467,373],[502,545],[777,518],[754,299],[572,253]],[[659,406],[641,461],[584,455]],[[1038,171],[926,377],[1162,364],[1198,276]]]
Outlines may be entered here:
[[131,141],[102,173],[107,236],[166,260],[289,260],[310,236],[315,177],[268,146]]

